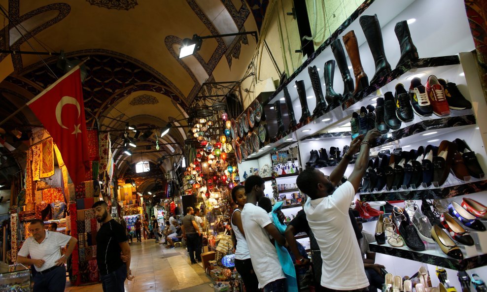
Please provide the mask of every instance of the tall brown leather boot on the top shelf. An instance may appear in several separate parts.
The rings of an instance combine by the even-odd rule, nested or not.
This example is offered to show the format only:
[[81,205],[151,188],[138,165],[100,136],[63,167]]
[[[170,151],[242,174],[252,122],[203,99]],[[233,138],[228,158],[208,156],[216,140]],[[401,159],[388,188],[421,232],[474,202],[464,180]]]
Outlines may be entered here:
[[364,72],[362,62],[360,62],[360,53],[358,51],[357,37],[354,31],[349,31],[343,36],[343,43],[347,50],[348,57],[350,57],[350,63],[353,67],[353,75],[355,76],[355,90],[353,94],[363,90],[369,86],[369,78]]

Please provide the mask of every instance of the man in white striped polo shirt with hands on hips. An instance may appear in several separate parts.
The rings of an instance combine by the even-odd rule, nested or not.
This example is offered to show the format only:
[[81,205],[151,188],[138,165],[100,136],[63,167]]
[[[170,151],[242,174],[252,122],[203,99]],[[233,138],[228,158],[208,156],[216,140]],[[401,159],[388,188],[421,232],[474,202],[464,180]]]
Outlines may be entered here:
[[[78,240],[61,232],[45,230],[44,222],[39,219],[31,222],[29,230],[32,236],[20,248],[17,262],[35,266],[35,292],[63,292],[66,287],[65,263]],[[61,256],[63,246],[66,246],[66,252]],[[27,258],[29,255],[31,259]]]

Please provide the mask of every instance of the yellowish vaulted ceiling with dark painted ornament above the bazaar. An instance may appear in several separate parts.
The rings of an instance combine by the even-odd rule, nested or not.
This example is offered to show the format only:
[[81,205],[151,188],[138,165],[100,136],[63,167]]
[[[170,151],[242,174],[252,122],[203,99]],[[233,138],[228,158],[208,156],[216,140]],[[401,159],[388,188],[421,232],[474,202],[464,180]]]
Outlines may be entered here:
[[[181,40],[195,33],[258,31],[268,0],[0,0],[0,4],[8,13],[8,17],[0,14],[1,50],[64,51],[71,61],[90,57],[83,83],[88,127],[98,122],[100,130],[114,130],[115,148],[123,136],[115,130],[125,129],[127,123],[154,129],[138,140],[141,147],[134,150],[139,155],[130,159],[132,165],[142,158],[157,163],[162,156],[182,153],[187,128],[174,127],[162,139],[157,138],[158,129],[172,121],[186,126],[187,109],[201,84],[241,78],[256,45],[247,35],[205,39],[198,53],[179,60]],[[56,66],[58,56],[17,54],[12,59],[15,71],[0,83],[2,120],[64,74]],[[2,127],[8,132],[22,125],[39,125],[29,109]],[[159,151],[154,148],[156,139]],[[127,159],[116,150],[120,169],[126,169],[122,164]],[[166,163],[162,170],[171,167]]]

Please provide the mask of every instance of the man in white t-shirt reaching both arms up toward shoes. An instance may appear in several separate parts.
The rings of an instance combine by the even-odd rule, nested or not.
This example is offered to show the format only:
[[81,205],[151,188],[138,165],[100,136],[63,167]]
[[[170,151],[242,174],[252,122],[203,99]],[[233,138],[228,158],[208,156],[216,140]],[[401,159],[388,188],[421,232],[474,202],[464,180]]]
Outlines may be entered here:
[[[308,168],[296,179],[299,190],[308,195],[304,211],[321,251],[321,291],[368,291],[369,281],[348,208],[367,169],[370,143],[378,136],[380,133],[374,129],[356,138],[360,154],[348,181],[336,190],[318,169]],[[344,159],[350,160],[349,155]]]

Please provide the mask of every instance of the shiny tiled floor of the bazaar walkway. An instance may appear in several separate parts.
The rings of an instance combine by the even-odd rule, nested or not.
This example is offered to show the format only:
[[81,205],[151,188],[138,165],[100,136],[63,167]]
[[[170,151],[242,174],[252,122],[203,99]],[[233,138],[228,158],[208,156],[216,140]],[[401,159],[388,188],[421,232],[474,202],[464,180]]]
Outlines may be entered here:
[[[212,292],[211,280],[200,264],[190,264],[185,248],[167,249],[154,239],[134,242],[132,274],[135,279],[125,281],[126,292]],[[197,286],[197,287],[195,287]],[[193,289],[191,289],[193,288]],[[102,284],[73,287],[67,292],[102,292]]]

